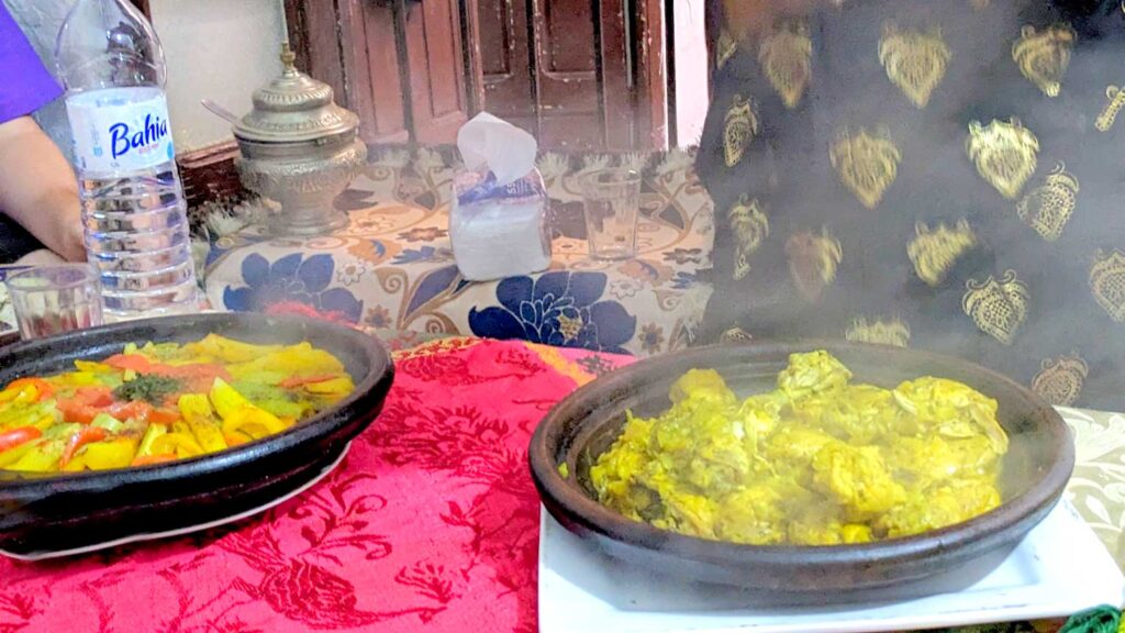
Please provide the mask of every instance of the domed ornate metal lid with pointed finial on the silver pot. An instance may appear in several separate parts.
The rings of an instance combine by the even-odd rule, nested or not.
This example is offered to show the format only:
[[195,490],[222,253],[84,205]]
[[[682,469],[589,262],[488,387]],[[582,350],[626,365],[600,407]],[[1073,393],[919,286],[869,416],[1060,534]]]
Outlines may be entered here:
[[254,109],[234,125],[234,135],[262,143],[299,143],[354,133],[356,113],[335,104],[332,88],[297,70],[289,43],[281,47],[281,75],[254,91]]

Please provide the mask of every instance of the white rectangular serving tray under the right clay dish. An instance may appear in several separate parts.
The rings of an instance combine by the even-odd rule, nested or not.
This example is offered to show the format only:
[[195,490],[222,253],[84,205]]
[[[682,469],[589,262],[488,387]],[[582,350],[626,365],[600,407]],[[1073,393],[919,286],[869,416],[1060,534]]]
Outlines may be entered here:
[[939,592],[926,598],[813,607],[749,606],[753,594],[658,578],[541,517],[542,633],[880,633],[1065,617],[1125,598],[1114,559],[1065,502],[976,580],[961,571],[927,580]]

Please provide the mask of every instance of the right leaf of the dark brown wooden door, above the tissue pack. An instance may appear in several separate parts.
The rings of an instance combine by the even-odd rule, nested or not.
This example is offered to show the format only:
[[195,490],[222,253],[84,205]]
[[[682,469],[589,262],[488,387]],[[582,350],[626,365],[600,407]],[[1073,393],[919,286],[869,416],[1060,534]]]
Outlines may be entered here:
[[546,148],[663,146],[651,135],[665,102],[663,83],[649,91],[663,63],[650,7],[658,17],[656,0],[478,0],[485,109]]

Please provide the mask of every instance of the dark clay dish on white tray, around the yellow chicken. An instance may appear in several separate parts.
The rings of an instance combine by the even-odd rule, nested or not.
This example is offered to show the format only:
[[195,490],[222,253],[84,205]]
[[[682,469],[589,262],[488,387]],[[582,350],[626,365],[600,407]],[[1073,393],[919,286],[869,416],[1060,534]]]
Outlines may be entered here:
[[[826,349],[855,382],[894,387],[938,376],[996,399],[1009,438],[1000,507],[964,523],[915,536],[828,546],[742,545],[685,536],[632,520],[598,503],[590,469],[626,424],[626,411],[649,418],[670,405],[669,386],[693,368],[712,368],[740,396],[775,389],[792,353]],[[755,592],[820,600],[866,597],[966,569],[1006,551],[1054,508],[1074,465],[1065,422],[1027,389],[983,367],[944,356],[850,342],[801,341],[691,349],[639,362],[579,389],[560,402],[532,437],[531,473],[547,510],[592,547],[654,574]],[[560,467],[565,464],[565,467]],[[560,472],[561,471],[561,472]],[[564,476],[566,474],[566,476]],[[820,596],[820,597],[817,597]]]

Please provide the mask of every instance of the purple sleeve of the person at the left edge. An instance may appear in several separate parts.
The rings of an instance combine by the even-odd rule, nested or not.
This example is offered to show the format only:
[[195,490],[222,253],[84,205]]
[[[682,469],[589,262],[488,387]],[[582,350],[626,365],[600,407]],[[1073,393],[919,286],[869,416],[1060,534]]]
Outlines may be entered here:
[[3,2],[0,2],[0,78],[3,78],[0,123],[32,114],[62,93]]

